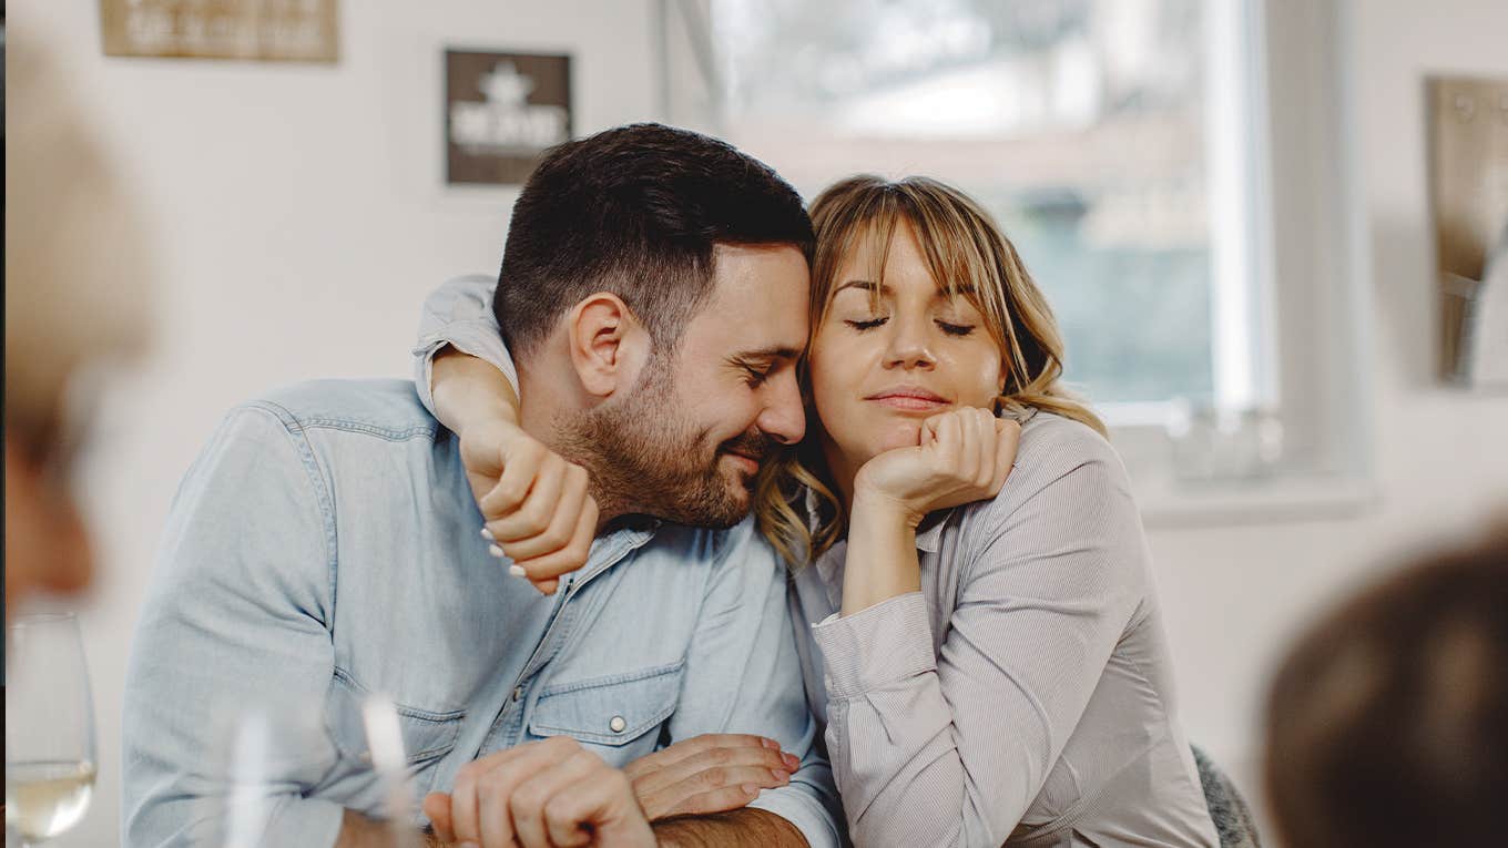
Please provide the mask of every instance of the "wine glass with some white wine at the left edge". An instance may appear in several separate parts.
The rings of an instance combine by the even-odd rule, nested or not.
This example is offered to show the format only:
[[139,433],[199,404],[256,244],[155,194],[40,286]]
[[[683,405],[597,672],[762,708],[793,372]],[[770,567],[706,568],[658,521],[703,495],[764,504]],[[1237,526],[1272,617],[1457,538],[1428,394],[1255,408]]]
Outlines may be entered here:
[[93,702],[72,613],[6,628],[5,824],[38,845],[78,824],[95,779]]

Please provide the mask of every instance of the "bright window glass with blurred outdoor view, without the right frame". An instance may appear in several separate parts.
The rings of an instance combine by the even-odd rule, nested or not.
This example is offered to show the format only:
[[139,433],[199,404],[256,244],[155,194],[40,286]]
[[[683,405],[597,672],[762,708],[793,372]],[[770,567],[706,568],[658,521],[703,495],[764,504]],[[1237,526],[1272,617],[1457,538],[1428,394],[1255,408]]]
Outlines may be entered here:
[[[1173,400],[1247,406],[1253,216],[1229,180],[1246,149],[1211,152],[1237,136],[1217,122],[1247,107],[1220,6],[674,3],[704,35],[692,54],[706,83],[700,103],[673,100],[673,119],[769,161],[808,199],[860,171],[980,199],[1057,312],[1068,380],[1113,421]],[[1235,305],[1221,300],[1232,288]],[[1238,324],[1235,350],[1215,344],[1217,323]]]

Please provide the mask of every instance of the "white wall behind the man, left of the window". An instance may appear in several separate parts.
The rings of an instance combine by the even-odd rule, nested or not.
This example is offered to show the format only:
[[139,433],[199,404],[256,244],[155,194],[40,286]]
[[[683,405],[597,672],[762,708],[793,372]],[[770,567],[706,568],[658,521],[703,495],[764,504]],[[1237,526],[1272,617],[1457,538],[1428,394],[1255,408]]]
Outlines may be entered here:
[[443,184],[445,47],[566,50],[576,131],[651,118],[653,0],[341,3],[336,65],[104,57],[100,3],[9,3],[47,38],[161,240],[160,333],[107,400],[87,478],[101,573],[84,617],[93,809],[59,845],[118,842],[130,634],[178,478],[238,400],[315,376],[406,376],[424,294],[495,273],[514,195]]

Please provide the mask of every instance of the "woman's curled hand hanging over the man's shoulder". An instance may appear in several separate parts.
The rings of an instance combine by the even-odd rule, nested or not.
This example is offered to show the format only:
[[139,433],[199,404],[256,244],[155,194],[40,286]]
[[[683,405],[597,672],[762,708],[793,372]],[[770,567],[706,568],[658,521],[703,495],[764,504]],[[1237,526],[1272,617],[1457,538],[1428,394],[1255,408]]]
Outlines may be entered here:
[[461,465],[493,555],[507,555],[513,573],[552,595],[561,575],[587,564],[597,533],[587,469],[504,419],[474,422],[460,438]]

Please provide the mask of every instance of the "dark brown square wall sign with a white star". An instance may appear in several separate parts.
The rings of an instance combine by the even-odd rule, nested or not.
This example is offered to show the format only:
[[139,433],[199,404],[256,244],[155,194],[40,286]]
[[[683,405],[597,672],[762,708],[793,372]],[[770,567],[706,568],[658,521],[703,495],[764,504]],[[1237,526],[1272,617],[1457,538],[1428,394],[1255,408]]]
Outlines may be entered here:
[[570,56],[445,51],[448,184],[517,186],[570,137]]

